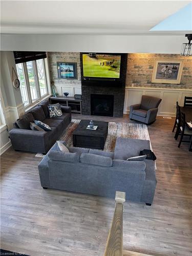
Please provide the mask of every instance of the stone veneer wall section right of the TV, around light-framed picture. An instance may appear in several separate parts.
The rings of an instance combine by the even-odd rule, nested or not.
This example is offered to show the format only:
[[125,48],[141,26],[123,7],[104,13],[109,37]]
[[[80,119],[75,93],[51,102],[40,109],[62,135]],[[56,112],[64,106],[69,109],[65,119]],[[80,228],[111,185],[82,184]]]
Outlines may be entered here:
[[[184,60],[180,84],[152,83],[155,59]],[[192,57],[179,54],[129,53],[127,57],[126,86],[168,89],[192,89]]]

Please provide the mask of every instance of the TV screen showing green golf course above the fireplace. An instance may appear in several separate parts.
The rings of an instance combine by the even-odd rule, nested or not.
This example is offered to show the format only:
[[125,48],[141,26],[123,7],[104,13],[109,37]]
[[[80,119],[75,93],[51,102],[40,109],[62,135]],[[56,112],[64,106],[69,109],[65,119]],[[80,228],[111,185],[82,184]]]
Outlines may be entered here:
[[120,77],[121,55],[82,54],[83,76],[101,78]]

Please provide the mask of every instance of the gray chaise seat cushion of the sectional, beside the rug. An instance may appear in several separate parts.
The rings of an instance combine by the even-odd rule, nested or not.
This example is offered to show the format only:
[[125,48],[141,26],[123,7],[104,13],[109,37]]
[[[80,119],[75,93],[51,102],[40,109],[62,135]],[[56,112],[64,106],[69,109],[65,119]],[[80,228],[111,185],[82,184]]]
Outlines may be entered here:
[[141,150],[149,150],[149,140],[139,140],[119,137],[116,140],[114,159],[126,160],[129,157],[139,156]]

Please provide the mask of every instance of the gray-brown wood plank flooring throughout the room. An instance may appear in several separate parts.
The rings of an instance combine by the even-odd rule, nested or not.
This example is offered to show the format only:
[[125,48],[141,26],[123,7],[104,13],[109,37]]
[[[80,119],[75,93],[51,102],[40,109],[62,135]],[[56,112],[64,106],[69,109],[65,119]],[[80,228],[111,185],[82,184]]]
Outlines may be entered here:
[[[74,115],[73,118],[91,119]],[[94,117],[129,122],[123,118]],[[154,204],[126,201],[123,249],[152,255],[192,255],[192,153],[178,148],[174,119],[148,126],[157,156]],[[103,255],[115,200],[42,189],[33,153],[9,148],[1,157],[1,248],[29,255]]]

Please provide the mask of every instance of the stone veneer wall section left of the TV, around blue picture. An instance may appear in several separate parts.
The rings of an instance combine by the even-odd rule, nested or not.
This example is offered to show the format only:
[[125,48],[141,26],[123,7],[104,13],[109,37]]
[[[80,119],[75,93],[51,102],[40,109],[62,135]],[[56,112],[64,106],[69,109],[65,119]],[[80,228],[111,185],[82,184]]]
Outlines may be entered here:
[[[54,81],[57,86],[80,85],[81,86],[81,71],[80,71],[80,53],[79,52],[49,52],[49,69],[51,81]],[[76,62],[77,63],[77,79],[58,78],[57,62]]]

